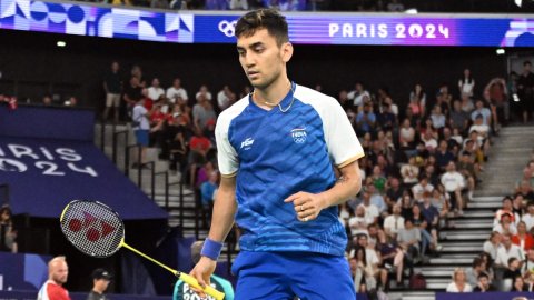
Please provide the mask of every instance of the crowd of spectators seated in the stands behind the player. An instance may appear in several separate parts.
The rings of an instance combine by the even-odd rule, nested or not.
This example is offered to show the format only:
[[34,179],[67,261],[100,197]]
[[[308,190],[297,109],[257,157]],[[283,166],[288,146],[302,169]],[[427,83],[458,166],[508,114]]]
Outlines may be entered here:
[[[402,106],[385,87],[370,92],[356,82],[353,89],[339,91],[337,99],[366,153],[359,160],[362,192],[339,207],[339,220],[349,237],[346,256],[359,292],[387,290],[393,281],[395,288],[405,288],[414,266],[439,254],[439,232],[454,227],[452,218],[463,216],[481,181],[492,139],[511,119],[511,92],[518,92],[525,101],[532,97],[517,91],[518,83],[531,91],[534,87],[530,62],[524,68],[517,81],[495,78],[483,86],[482,92],[476,92],[478,83],[468,69],[456,79],[455,87],[443,84],[427,90],[415,83],[406,99],[400,99],[399,103],[405,103]],[[244,87],[236,93],[228,86],[217,92],[201,86],[191,92],[180,78],[175,78],[165,89],[158,78],[145,78],[138,66],[121,84],[118,72],[119,66],[113,63],[105,77],[105,119],[117,121],[121,102],[126,103],[135,130],[141,129],[146,119],[145,146],[158,148],[159,158],[168,160],[170,169],[180,172],[185,183],[196,191],[197,203],[206,212],[204,224],[208,226],[219,179],[217,114],[250,93],[251,88]],[[525,121],[530,117],[527,113]],[[146,167],[142,158],[140,162],[134,167]],[[532,171],[527,174],[525,170],[528,181],[518,184],[523,193],[532,193]],[[517,201],[511,199],[508,210]],[[534,206],[530,209],[534,213]],[[521,216],[512,217],[496,221],[497,231],[502,231],[498,239],[515,229],[511,223],[521,220]],[[521,237],[530,230],[521,227]],[[488,264],[497,257],[482,259]],[[510,262],[501,258],[497,264],[506,267]],[[473,278],[462,272],[455,273],[458,282]],[[488,273],[487,281],[492,280],[493,273]]]

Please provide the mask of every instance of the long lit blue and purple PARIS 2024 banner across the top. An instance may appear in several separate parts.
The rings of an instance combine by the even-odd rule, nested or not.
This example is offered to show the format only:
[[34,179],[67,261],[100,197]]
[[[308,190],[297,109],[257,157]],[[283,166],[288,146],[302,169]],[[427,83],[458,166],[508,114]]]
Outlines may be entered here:
[[[177,43],[234,43],[243,12],[0,0],[0,29]],[[284,12],[304,44],[534,47],[534,16]]]

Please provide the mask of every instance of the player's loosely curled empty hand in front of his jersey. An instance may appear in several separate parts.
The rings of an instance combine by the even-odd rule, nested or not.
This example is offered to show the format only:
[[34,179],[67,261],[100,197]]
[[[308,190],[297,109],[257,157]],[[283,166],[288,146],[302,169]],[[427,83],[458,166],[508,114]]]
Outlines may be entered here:
[[326,207],[323,197],[303,191],[289,196],[284,202],[293,202],[297,219],[301,222],[309,222],[317,219],[319,212]]

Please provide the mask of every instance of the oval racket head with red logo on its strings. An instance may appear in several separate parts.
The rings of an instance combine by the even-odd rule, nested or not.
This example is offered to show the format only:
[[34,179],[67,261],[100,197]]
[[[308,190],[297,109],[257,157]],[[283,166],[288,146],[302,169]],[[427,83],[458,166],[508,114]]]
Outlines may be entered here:
[[73,200],[60,217],[61,231],[81,252],[107,258],[123,244],[125,224],[110,207],[88,200]]

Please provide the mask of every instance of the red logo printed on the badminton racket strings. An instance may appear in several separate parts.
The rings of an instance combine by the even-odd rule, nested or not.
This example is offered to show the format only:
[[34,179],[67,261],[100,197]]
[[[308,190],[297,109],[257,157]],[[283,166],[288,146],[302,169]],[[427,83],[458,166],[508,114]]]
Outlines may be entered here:
[[69,230],[72,232],[85,232],[87,240],[96,242],[111,234],[116,228],[103,221],[97,219],[89,212],[83,212],[83,218],[72,218],[68,223]]

